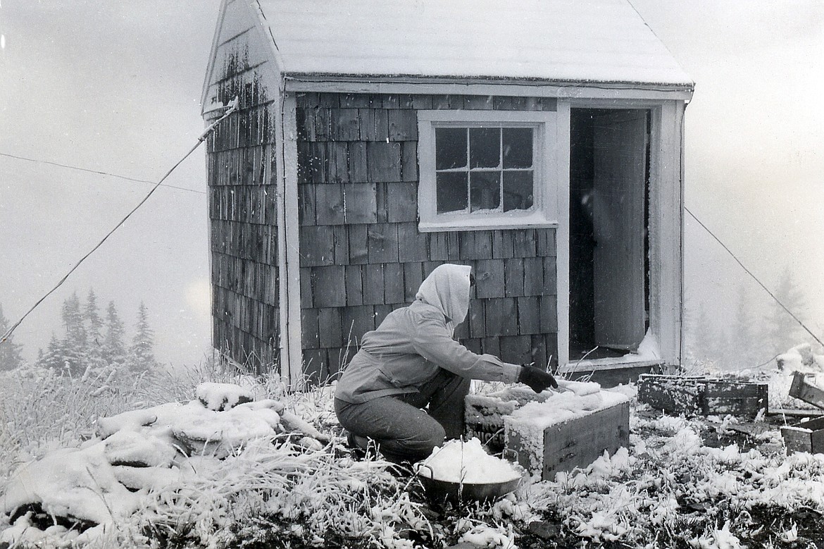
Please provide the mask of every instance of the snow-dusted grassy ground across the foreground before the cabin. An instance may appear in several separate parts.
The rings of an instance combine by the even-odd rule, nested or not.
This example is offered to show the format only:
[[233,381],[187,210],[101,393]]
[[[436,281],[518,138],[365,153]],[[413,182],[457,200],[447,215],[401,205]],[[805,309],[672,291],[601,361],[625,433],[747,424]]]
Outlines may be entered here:
[[[771,408],[800,408],[787,396],[792,373],[821,372],[824,361],[801,346],[780,364],[742,375],[770,384]],[[434,504],[414,476],[374,456],[349,455],[330,387],[295,395],[274,381],[224,375],[203,383],[179,378],[176,388],[171,378],[130,380],[124,394],[99,391],[115,381],[105,372],[82,379],[30,370],[4,375],[0,539],[12,546],[588,541],[722,549],[806,547],[824,536],[824,455],[788,455],[780,418],[760,421],[756,434],[744,436],[730,416],[650,410],[634,400],[633,386],[607,392],[566,383],[566,391],[518,412],[522,421],[546,426],[629,399],[627,448],[551,481],[525,476],[494,503]],[[171,394],[189,397],[166,398]],[[484,462],[488,479],[505,476],[500,460],[476,455],[480,445],[462,446],[465,463]],[[444,466],[453,469],[452,462]]]

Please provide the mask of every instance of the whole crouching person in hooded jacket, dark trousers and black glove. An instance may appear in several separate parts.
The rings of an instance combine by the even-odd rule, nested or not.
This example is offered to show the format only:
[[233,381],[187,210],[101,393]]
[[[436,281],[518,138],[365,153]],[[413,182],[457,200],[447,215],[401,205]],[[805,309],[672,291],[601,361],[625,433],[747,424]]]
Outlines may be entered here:
[[335,413],[350,446],[365,449],[373,439],[386,459],[415,462],[461,437],[472,379],[524,382],[536,392],[558,387],[540,368],[475,354],[453,339],[473,282],[471,267],[439,265],[414,303],[363,336],[335,390]]

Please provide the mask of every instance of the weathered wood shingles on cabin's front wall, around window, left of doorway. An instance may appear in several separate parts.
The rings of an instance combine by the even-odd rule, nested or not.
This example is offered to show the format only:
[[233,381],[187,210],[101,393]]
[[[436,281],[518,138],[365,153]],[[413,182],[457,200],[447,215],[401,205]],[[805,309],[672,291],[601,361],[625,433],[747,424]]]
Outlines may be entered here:
[[444,262],[475,270],[456,332],[467,346],[516,363],[556,354],[555,229],[419,232],[416,110],[431,108],[553,110],[555,101],[297,94],[303,360],[320,380]]

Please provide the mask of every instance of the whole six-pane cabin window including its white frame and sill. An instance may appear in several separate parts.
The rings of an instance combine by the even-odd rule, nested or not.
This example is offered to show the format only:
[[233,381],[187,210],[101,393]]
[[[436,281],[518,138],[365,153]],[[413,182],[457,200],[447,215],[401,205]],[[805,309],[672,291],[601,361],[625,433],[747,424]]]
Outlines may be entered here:
[[554,112],[419,111],[420,229],[554,224],[555,125]]

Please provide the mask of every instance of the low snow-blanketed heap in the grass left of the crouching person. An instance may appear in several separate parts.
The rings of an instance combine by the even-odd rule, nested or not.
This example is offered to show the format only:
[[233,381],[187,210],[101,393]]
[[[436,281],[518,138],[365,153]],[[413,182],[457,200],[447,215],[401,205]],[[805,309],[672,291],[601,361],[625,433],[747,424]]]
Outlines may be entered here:
[[100,418],[95,438],[47,453],[12,475],[0,499],[12,528],[0,534],[0,544],[82,544],[142,509],[152,493],[203,470],[204,460],[217,464],[255,440],[272,446],[268,441],[278,435],[295,435],[315,449],[328,440],[279,401],[249,397],[242,387],[204,383],[188,403]]

